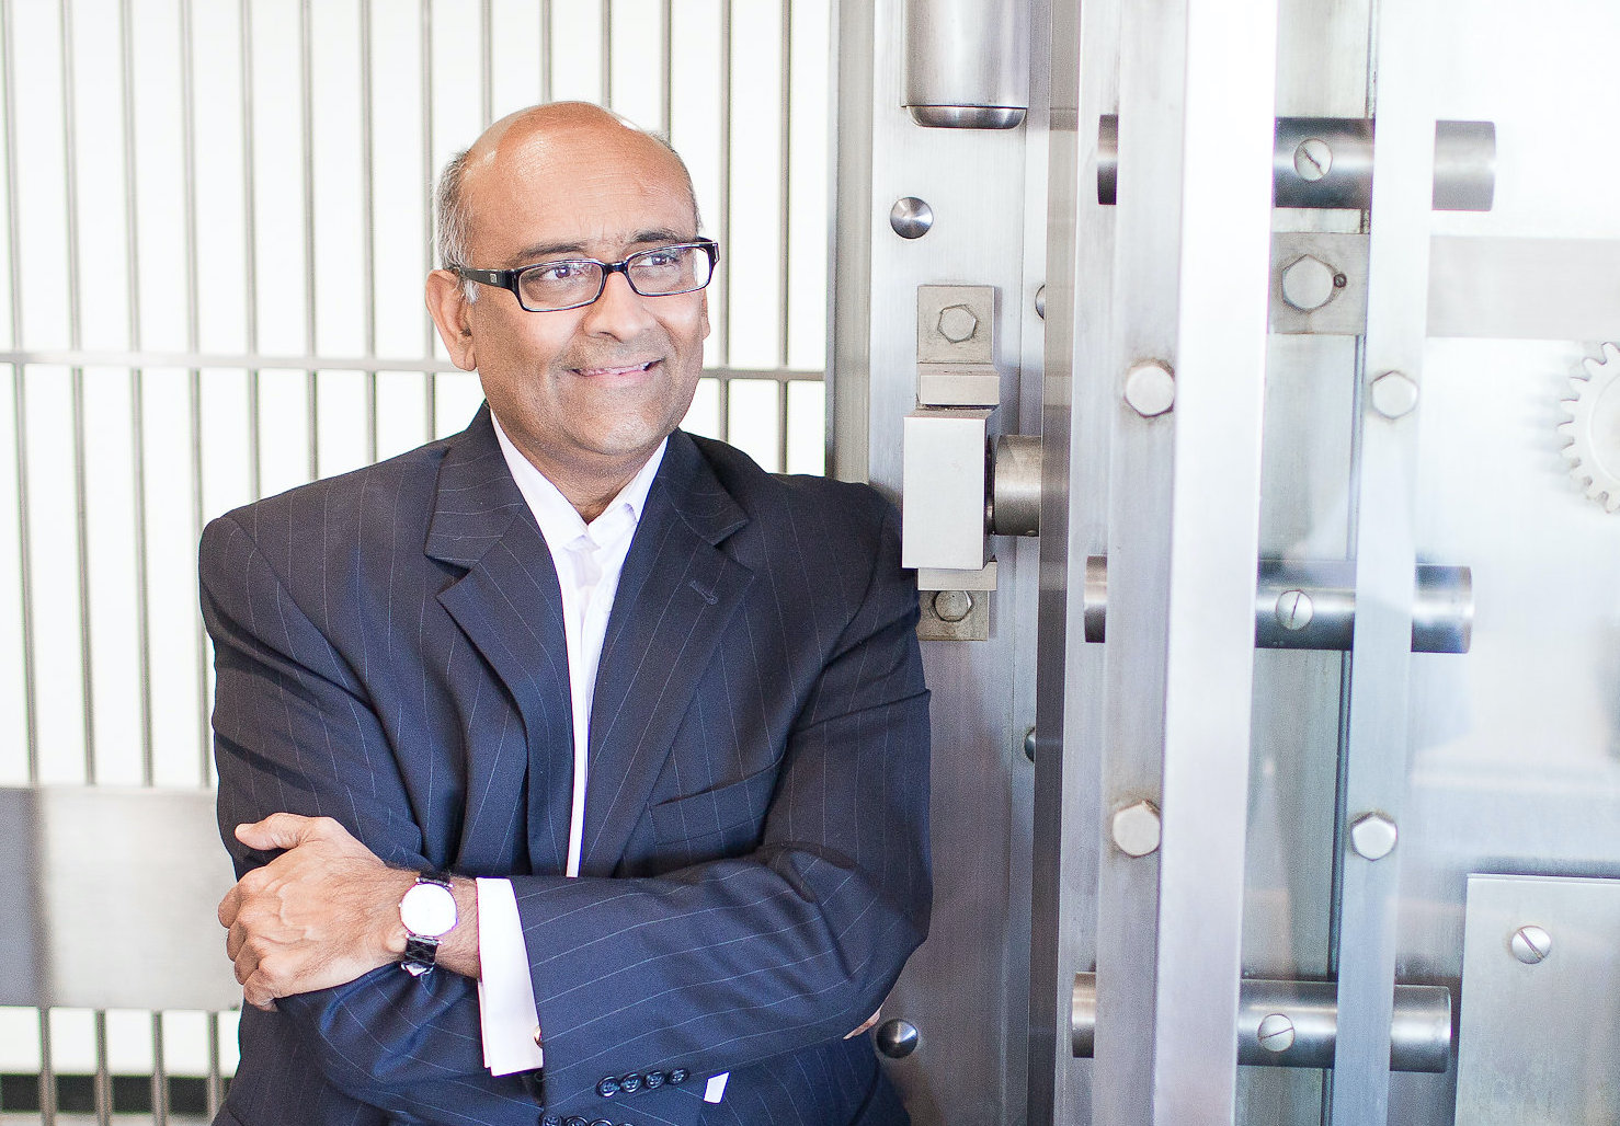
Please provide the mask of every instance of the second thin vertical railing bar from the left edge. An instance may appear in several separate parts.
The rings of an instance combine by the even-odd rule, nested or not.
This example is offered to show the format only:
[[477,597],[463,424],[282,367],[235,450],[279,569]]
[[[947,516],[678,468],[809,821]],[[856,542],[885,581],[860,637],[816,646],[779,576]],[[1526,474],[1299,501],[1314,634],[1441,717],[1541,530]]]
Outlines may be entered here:
[[[83,278],[79,277],[79,159],[78,120],[75,105],[73,68],[73,3],[62,0],[58,28],[62,31],[62,154],[63,188],[66,194],[66,259],[68,259],[68,346],[79,348],[84,338]],[[73,539],[79,558],[79,692],[84,697],[84,780],[96,783],[96,673],[91,654],[91,558],[89,558],[89,495],[86,492],[86,442],[84,442],[84,369],[70,367],[73,383]]]

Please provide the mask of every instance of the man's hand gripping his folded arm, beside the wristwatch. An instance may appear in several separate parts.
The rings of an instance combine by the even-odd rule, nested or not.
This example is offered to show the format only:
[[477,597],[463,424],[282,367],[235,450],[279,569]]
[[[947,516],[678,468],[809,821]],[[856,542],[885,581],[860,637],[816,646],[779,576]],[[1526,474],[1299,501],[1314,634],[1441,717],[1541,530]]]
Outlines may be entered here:
[[225,953],[248,1005],[347,985],[405,951],[400,896],[413,872],[390,869],[330,817],[271,814],[237,825],[253,849],[287,849],[248,872],[219,904]]

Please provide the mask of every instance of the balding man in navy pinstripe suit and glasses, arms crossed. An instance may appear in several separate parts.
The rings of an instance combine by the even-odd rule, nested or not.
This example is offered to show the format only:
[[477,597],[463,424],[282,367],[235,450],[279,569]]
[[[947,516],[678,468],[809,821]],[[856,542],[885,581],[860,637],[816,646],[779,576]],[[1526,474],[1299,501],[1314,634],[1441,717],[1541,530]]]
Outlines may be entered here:
[[894,511],[676,430],[718,248],[656,139],[515,113],[439,210],[488,406],[202,537],[219,1121],[904,1123],[849,1039],[930,900]]

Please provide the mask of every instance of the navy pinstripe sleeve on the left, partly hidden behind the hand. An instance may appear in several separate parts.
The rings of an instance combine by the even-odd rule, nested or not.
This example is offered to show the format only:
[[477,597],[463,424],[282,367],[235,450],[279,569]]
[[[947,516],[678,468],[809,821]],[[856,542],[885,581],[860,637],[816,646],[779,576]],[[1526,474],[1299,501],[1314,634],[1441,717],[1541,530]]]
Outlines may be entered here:
[[[389,864],[429,867],[405,785],[360,678],[225,516],[202,535],[202,616],[214,641],[219,823],[241,877],[272,859],[235,825],[277,811],[339,820]],[[536,1089],[483,1066],[476,985],[384,966],[287,997],[287,1021],[327,1081],[397,1121],[533,1126]]]

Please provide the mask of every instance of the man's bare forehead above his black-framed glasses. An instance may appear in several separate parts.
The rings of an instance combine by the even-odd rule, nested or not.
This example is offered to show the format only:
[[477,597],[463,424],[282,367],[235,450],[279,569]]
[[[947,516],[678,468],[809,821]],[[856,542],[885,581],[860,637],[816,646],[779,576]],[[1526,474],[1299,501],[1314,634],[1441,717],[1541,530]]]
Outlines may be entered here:
[[538,251],[617,256],[697,235],[674,154],[622,126],[509,131],[471,162],[463,199],[468,249],[489,265]]

